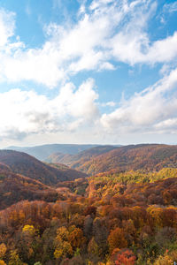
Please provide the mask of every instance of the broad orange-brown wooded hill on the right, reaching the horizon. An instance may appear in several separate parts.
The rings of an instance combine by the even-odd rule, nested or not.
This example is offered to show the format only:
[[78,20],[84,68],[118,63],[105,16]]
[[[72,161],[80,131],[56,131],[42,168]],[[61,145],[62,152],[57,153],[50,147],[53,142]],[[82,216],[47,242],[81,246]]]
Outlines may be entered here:
[[177,168],[177,146],[143,144],[114,148],[102,155],[90,157],[89,161],[73,163],[72,167],[89,175],[109,170],[160,170]]

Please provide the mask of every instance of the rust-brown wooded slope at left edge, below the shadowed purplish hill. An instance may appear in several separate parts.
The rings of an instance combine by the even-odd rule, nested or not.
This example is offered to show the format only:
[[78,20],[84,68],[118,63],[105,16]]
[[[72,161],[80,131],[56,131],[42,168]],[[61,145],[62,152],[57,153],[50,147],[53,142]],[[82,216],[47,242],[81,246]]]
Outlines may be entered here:
[[58,192],[41,182],[13,173],[0,164],[0,209],[7,208],[18,201],[56,201]]

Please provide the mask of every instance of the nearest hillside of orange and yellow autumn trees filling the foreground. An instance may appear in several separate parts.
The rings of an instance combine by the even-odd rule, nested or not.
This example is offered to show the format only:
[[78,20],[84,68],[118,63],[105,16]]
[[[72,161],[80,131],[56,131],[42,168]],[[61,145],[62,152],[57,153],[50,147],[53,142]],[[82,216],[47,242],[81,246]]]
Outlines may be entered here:
[[[81,185],[84,196],[19,201],[5,208],[0,211],[2,264],[173,264],[176,174],[176,169],[146,176],[132,171],[126,183],[122,173],[91,177],[89,186],[85,179],[65,182],[58,190],[70,195]],[[145,177],[150,183],[143,183]]]

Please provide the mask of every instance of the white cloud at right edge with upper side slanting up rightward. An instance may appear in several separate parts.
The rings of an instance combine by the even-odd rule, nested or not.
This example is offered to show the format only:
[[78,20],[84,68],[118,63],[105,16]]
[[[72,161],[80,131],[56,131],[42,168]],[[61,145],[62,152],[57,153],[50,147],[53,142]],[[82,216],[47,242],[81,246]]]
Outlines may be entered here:
[[110,133],[177,133],[177,69],[101,117]]

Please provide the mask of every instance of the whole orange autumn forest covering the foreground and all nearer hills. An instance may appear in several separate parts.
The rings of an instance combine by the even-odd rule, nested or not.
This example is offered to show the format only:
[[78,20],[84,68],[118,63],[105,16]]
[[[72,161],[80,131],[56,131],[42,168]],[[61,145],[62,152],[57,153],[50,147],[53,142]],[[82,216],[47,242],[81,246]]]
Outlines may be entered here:
[[104,170],[94,164],[96,174],[89,177],[27,156],[38,173],[40,166],[62,172],[49,183],[45,174],[33,178],[32,162],[28,167],[20,158],[14,162],[20,153],[1,153],[1,265],[177,261],[177,147],[103,148],[103,154],[92,149],[87,154],[96,155],[89,163],[91,158],[101,164],[103,158]]

